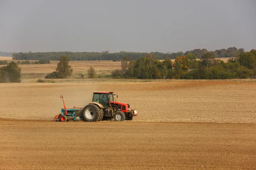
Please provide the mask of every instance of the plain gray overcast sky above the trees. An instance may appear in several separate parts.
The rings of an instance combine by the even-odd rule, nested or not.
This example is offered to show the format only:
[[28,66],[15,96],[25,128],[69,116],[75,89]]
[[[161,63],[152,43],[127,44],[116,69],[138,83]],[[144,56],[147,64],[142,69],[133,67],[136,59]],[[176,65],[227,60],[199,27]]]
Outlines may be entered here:
[[256,0],[0,0],[0,51],[256,48]]

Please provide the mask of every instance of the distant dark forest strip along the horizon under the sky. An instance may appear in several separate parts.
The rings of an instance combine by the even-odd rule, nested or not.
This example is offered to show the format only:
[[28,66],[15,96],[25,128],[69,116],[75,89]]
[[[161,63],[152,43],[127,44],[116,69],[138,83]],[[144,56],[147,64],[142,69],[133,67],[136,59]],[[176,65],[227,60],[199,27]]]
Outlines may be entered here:
[[215,50],[215,51],[207,51],[207,49],[194,49],[192,51],[186,51],[183,53],[182,51],[177,53],[160,53],[160,52],[151,52],[151,53],[138,53],[138,52],[125,52],[121,51],[118,53],[109,53],[108,51],[104,52],[36,52],[32,53],[29,51],[28,53],[13,53],[12,59],[15,60],[40,60],[42,58],[47,58],[49,60],[59,60],[61,56],[68,56],[70,60],[123,60],[124,57],[128,57],[128,61],[134,59],[140,59],[147,54],[154,55],[156,59],[166,59],[169,57],[170,59],[175,59],[179,56],[187,56],[188,54],[194,54],[196,58],[201,59],[203,54],[212,53],[215,58],[218,57],[236,57],[239,53],[244,52],[243,48],[237,49],[236,47],[230,47],[227,49]]

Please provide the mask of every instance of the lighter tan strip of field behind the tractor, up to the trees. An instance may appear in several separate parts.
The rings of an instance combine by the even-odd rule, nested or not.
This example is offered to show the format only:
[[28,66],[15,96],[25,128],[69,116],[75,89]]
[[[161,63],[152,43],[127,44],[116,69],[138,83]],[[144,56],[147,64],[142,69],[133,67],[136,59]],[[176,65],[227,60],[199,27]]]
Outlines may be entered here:
[[143,122],[256,123],[256,82],[171,81],[137,83],[0,84],[2,118],[50,120],[63,107],[84,107],[93,91],[114,91]]

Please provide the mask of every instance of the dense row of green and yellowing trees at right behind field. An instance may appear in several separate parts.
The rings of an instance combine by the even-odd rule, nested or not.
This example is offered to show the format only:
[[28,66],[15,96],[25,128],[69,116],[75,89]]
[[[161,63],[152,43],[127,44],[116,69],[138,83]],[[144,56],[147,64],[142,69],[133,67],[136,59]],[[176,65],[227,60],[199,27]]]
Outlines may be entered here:
[[[126,61],[125,61],[126,60]],[[122,70],[114,70],[114,78],[134,79],[236,79],[256,78],[256,50],[241,51],[237,57],[228,62],[215,59],[212,52],[202,55],[196,60],[195,54],[180,56],[172,63],[167,57],[163,62],[156,59],[154,54],[147,54],[128,65],[127,57],[122,62]]]

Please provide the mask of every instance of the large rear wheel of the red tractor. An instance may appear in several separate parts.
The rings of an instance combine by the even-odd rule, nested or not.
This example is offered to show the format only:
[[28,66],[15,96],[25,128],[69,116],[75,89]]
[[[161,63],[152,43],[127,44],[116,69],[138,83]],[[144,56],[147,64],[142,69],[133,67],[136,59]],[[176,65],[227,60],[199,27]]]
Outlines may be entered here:
[[104,116],[103,114],[103,110],[93,104],[85,106],[83,110],[84,120],[87,122],[100,121]]

